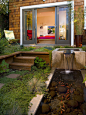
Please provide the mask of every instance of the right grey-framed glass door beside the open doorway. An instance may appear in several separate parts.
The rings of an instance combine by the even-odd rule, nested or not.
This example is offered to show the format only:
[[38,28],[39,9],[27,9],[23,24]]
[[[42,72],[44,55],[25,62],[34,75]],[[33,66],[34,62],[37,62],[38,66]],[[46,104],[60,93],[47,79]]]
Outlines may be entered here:
[[57,44],[71,44],[69,7],[57,7]]

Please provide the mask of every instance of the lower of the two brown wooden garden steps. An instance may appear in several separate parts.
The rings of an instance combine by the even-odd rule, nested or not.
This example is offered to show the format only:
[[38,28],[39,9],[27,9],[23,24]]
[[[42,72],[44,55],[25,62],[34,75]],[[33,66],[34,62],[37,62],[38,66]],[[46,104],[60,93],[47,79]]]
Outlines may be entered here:
[[34,64],[27,64],[27,63],[10,63],[9,68],[10,69],[19,69],[19,70],[29,70],[31,71],[31,66]]

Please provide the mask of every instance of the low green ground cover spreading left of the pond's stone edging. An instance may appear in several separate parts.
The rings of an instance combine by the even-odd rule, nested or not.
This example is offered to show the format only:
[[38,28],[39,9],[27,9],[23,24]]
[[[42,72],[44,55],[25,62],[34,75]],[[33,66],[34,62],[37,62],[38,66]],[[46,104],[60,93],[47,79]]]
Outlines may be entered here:
[[[17,73],[20,77],[11,79],[6,75]],[[0,83],[5,85],[0,89],[0,115],[27,115],[29,103],[37,93],[45,92],[45,81],[50,73],[50,67],[44,71],[36,66],[32,71],[10,70],[0,76]]]

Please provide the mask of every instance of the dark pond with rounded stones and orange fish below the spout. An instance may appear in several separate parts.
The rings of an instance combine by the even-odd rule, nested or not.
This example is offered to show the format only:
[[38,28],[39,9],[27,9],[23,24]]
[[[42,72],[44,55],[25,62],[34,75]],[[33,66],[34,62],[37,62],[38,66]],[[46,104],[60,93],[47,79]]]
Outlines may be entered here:
[[86,115],[86,87],[81,71],[56,69],[36,115]]

